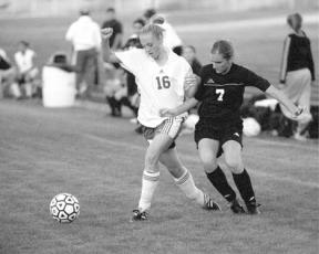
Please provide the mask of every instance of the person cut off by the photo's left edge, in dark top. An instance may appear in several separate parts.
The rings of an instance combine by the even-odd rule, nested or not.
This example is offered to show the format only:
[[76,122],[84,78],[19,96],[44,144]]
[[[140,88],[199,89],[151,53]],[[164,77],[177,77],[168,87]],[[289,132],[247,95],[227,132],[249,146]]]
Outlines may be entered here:
[[16,98],[21,97],[18,84],[16,83],[17,70],[10,63],[4,50],[0,49],[0,98],[6,95]]

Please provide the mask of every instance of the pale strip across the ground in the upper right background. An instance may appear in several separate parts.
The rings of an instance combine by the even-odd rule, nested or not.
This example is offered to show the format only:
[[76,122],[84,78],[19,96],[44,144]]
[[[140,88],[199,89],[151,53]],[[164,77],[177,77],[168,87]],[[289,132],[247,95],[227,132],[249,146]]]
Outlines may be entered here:
[[[205,32],[205,31],[219,31],[219,30],[236,30],[236,29],[251,29],[251,28],[266,28],[275,25],[286,25],[286,17],[260,18],[249,20],[234,20],[222,22],[206,22],[193,23],[184,25],[174,25],[177,32]],[[302,17],[303,24],[319,24],[319,13],[308,13]]]

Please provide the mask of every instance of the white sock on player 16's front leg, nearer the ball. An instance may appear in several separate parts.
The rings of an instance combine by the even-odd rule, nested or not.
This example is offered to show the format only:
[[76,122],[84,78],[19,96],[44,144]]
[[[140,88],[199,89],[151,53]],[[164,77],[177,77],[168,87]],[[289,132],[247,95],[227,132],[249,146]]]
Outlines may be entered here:
[[160,172],[147,172],[144,170],[142,178],[142,191],[138,202],[141,212],[151,208],[152,198],[160,181]]

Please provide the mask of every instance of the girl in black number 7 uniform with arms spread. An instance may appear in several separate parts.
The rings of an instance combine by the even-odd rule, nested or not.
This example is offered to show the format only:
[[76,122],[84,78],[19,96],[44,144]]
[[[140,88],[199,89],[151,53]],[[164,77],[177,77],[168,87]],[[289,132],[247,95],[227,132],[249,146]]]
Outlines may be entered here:
[[[202,68],[200,84],[195,96],[176,108],[162,109],[161,115],[176,116],[202,102],[198,108],[199,121],[195,128],[195,141],[207,178],[230,203],[234,213],[245,212],[217,163],[217,158],[224,151],[226,166],[233,173],[247,212],[258,214],[255,192],[241,159],[243,120],[239,108],[245,86],[255,86],[278,99],[296,117],[303,115],[300,115],[302,109],[268,81],[233,63],[234,50],[228,41],[215,42],[210,53],[213,64]],[[194,83],[195,78],[188,78],[186,82]]]

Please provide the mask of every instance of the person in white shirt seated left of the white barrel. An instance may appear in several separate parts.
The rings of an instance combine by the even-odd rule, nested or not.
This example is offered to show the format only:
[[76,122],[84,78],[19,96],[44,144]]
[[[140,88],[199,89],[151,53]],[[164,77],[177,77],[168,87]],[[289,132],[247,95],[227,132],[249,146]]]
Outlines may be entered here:
[[35,57],[37,54],[30,49],[29,42],[20,41],[14,61],[18,67],[18,83],[25,98],[31,98],[40,85],[39,80],[37,81],[39,68],[35,66]]

